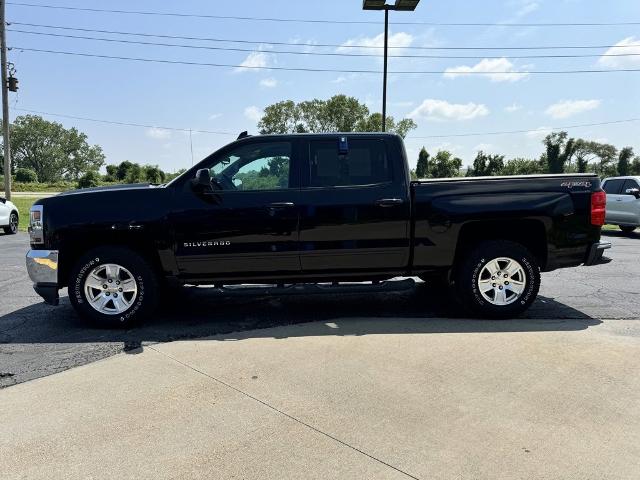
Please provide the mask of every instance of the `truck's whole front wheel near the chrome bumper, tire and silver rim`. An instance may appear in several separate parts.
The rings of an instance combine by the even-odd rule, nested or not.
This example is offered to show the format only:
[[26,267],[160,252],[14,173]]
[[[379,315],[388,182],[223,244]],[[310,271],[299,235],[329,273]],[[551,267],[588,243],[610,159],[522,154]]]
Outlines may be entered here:
[[139,254],[121,247],[99,247],[76,263],[69,299],[78,314],[98,327],[126,328],[154,312],[158,279]]

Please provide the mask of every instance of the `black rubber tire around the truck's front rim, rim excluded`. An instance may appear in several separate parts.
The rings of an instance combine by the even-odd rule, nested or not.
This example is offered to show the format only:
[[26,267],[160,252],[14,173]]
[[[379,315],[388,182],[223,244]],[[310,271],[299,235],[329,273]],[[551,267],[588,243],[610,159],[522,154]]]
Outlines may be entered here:
[[[135,281],[136,293],[127,299],[131,304],[126,310],[117,313],[115,311],[116,304],[109,303],[109,301],[105,304],[105,309],[111,309],[110,313],[102,313],[96,310],[90,305],[85,292],[87,277],[106,264],[115,264],[123,267],[123,272],[125,272],[121,274],[123,284],[126,281],[125,279],[128,279],[128,273],[131,274]],[[106,281],[105,285],[108,285]],[[116,287],[109,286],[109,288]],[[94,293],[99,295],[100,292],[96,288],[90,292],[90,295]],[[126,292],[120,293],[121,297],[124,297],[125,294]],[[115,293],[115,295],[117,296],[118,294]],[[84,254],[76,262],[69,278],[69,299],[80,317],[94,326],[100,328],[128,328],[149,317],[156,310],[158,305],[158,277],[147,260],[136,252],[122,247],[98,247]],[[113,299],[110,300],[110,302],[113,301]]]

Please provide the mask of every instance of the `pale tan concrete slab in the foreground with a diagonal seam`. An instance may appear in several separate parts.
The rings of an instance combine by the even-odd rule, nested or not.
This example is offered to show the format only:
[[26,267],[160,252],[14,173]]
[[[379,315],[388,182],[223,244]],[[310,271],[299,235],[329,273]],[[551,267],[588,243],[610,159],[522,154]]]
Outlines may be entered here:
[[149,344],[5,389],[3,478],[638,478],[637,338],[425,323]]

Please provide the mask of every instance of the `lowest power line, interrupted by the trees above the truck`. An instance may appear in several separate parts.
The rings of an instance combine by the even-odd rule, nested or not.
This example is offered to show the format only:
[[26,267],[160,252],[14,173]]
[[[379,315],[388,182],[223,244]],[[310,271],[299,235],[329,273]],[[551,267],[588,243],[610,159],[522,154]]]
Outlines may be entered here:
[[[232,135],[235,136],[236,133],[233,132],[224,132],[224,131],[211,131],[211,130],[195,130],[190,128],[176,128],[176,127],[161,127],[158,125],[148,125],[142,123],[133,123],[133,122],[121,122],[115,120],[104,120],[97,118],[89,118],[89,117],[81,117],[76,115],[67,115],[63,113],[52,113],[52,112],[43,112],[40,110],[31,110],[26,108],[16,108],[15,110],[26,113],[35,113],[38,115],[47,115],[50,117],[60,117],[60,118],[69,118],[72,120],[83,120],[88,122],[96,122],[96,123],[104,123],[110,125],[118,125],[125,127],[142,127],[142,128],[157,128],[159,130],[170,130],[177,132],[193,132],[193,133],[209,133],[214,135]],[[513,134],[521,134],[521,133],[537,133],[537,132],[547,132],[552,130],[569,130],[571,128],[586,128],[586,127],[599,127],[604,125],[616,125],[621,123],[631,123],[631,122],[640,122],[640,117],[637,118],[626,118],[622,120],[610,120],[606,122],[597,122],[597,123],[581,123],[575,125],[565,125],[563,127],[544,127],[544,128],[534,128],[529,130],[505,130],[505,131],[493,131],[493,132],[476,132],[476,133],[453,133],[446,135],[409,135],[409,139],[430,139],[430,138],[454,138],[454,137],[478,137],[478,136],[494,136],[494,135],[513,135]]]

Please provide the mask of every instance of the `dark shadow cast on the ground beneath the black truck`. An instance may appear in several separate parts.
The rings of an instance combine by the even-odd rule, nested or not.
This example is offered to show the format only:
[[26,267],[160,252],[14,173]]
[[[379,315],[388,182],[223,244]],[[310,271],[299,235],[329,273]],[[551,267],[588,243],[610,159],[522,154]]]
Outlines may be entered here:
[[[0,317],[0,344],[122,342],[126,351],[143,342],[205,338],[248,330],[255,330],[251,335],[261,337],[260,330],[267,328],[310,322],[336,323],[346,319],[361,320],[358,322],[360,335],[569,331],[601,323],[542,296],[517,319],[470,319],[446,291],[426,284],[397,293],[233,297],[207,288],[186,287],[174,300],[142,325],[130,330],[107,330],[88,327],[77,317],[68,298],[62,297],[58,307],[39,303]],[[375,319],[389,321],[371,322],[375,323],[375,331],[369,332],[367,321]],[[416,320],[421,321],[416,323]],[[411,328],[407,332],[408,324]],[[348,333],[326,329],[326,334]],[[270,334],[264,332],[264,335]]]

